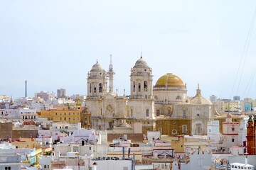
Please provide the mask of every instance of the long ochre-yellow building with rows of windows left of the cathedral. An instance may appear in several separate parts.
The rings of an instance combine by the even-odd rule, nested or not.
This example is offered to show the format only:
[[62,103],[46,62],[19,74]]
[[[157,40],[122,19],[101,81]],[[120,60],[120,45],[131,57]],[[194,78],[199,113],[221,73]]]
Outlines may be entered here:
[[66,122],[66,123],[80,123],[80,109],[68,110],[64,108],[63,110],[52,109],[49,111],[41,111],[39,117],[48,118],[54,122]]

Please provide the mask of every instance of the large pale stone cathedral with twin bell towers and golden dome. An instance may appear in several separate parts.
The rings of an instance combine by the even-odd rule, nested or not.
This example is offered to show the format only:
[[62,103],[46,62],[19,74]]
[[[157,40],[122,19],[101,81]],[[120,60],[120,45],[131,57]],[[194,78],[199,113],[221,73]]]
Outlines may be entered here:
[[165,74],[153,85],[151,67],[140,57],[130,73],[130,95],[113,91],[114,70],[99,62],[87,74],[86,106],[92,113],[92,128],[132,129],[146,134],[159,130],[163,135],[206,135],[213,105],[201,95],[187,96],[186,84],[174,74]]

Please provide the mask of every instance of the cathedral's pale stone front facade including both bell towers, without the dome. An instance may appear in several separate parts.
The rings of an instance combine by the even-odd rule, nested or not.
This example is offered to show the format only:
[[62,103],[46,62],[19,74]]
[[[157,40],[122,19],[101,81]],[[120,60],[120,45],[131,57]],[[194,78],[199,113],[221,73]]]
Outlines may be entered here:
[[[111,64],[110,64],[111,65]],[[110,67],[112,68],[112,67]],[[107,76],[110,87],[107,91]],[[131,69],[131,96],[118,96],[112,91],[114,72],[106,72],[97,62],[87,77],[87,107],[92,113],[92,125],[97,130],[112,130],[122,123],[122,119],[146,120],[143,127],[154,126],[154,99],[152,88],[152,70],[142,57]],[[130,120],[133,124],[134,121]],[[133,125],[132,125],[133,126]]]

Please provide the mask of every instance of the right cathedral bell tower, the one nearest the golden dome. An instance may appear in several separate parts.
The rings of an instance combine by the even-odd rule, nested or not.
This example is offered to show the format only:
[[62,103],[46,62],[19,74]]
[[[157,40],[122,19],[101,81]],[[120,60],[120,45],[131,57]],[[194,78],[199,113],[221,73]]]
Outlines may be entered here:
[[152,69],[142,56],[131,69],[131,96],[132,99],[153,98]]

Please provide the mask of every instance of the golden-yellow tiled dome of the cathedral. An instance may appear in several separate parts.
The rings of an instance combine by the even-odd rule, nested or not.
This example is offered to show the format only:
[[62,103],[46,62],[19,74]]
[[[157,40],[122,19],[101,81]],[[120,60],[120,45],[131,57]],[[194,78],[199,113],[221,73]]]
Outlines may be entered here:
[[157,86],[161,87],[161,86],[185,86],[185,85],[183,84],[183,81],[181,78],[179,78],[174,74],[168,73],[160,77],[156,81],[156,87]]

